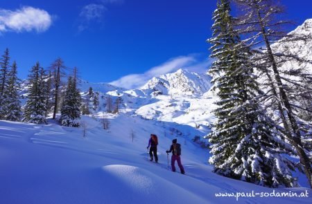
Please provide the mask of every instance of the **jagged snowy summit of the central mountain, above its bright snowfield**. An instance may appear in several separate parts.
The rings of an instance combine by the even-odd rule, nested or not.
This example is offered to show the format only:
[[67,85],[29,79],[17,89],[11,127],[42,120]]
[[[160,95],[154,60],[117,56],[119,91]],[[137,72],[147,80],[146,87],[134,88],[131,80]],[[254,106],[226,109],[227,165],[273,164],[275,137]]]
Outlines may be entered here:
[[175,73],[153,77],[141,89],[155,95],[198,95],[209,91],[210,80],[205,73],[193,73],[180,68]]

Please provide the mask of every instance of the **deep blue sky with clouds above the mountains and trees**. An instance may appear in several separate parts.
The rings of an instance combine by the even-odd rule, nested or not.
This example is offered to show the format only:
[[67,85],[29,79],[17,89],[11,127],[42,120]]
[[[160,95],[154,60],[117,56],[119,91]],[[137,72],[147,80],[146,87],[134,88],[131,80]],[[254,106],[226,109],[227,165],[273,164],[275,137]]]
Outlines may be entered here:
[[[297,24],[312,18],[312,1],[281,2]],[[0,52],[10,49],[21,78],[62,57],[89,82],[133,88],[180,67],[205,71],[215,8],[214,0],[1,1]]]

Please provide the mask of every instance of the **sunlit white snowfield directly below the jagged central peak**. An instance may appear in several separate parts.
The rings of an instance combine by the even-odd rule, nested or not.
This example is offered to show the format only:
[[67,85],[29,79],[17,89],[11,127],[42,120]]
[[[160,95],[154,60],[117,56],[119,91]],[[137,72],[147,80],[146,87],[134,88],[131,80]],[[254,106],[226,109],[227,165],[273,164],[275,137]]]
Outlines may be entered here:
[[135,113],[149,120],[159,120],[186,124],[202,131],[207,129],[214,122],[216,97],[211,91],[197,98],[170,95],[157,95],[154,102],[139,107]]

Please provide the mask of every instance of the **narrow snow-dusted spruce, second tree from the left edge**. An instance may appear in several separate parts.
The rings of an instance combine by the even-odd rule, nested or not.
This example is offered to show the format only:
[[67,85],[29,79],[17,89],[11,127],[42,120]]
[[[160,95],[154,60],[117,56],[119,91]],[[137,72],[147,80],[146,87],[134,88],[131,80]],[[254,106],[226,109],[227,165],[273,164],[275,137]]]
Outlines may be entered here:
[[20,88],[19,79],[17,78],[17,64],[13,62],[12,68],[8,73],[8,87],[5,90],[6,100],[3,102],[5,106],[4,120],[20,121],[21,120],[21,104],[19,102],[18,89]]

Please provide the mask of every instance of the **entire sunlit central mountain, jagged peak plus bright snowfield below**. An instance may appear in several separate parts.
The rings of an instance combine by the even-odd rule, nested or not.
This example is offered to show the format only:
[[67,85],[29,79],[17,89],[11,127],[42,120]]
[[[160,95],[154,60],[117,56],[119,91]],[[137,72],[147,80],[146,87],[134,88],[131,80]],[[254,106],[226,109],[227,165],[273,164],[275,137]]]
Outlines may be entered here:
[[189,125],[202,131],[214,122],[214,94],[211,78],[202,73],[179,69],[175,73],[153,77],[139,89],[147,102],[135,113],[143,118]]

